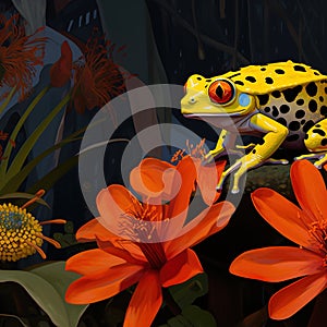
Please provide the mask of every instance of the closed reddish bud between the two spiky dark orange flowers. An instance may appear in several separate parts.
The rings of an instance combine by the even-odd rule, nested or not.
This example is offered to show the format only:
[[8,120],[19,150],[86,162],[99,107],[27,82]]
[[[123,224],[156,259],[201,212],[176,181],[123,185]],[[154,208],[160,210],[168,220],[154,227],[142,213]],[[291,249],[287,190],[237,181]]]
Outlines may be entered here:
[[68,41],[61,45],[61,56],[50,69],[50,84],[53,87],[64,86],[71,78],[73,53]]

